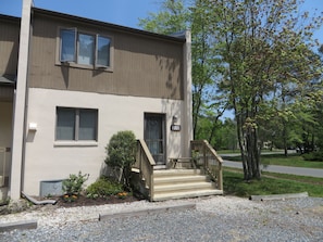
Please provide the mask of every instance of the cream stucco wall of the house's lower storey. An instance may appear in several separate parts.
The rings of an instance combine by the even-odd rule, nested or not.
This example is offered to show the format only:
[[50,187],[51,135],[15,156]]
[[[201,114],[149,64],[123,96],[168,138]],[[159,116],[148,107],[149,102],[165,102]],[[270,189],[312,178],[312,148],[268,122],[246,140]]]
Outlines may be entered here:
[[[133,130],[137,139],[144,138],[144,113],[166,114],[166,155],[186,154],[188,147],[182,145],[183,133],[171,131],[173,115],[177,124],[184,126],[184,101],[99,93],[60,91],[50,89],[29,89],[27,125],[37,124],[36,131],[27,131],[26,156],[23,190],[30,195],[39,194],[41,180],[64,179],[79,170],[90,174],[87,183],[94,182],[104,164],[105,145],[112,135],[120,130]],[[55,107],[98,109],[98,142],[54,141]],[[185,118],[184,118],[185,117]]]

